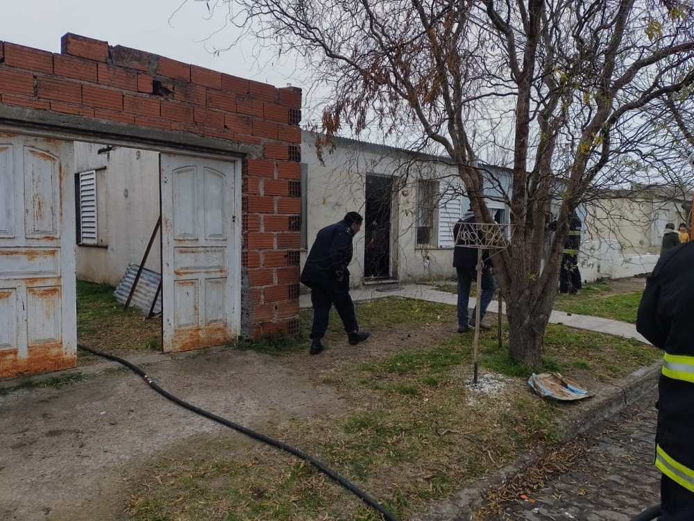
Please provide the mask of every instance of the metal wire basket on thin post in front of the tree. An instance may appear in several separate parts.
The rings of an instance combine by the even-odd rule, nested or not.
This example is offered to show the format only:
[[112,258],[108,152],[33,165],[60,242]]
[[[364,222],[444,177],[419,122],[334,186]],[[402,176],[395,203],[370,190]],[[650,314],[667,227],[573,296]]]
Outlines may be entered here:
[[[479,366],[480,345],[480,304],[482,301],[482,256],[484,250],[500,251],[509,246],[511,238],[510,224],[486,224],[463,222],[455,238],[457,248],[477,249],[477,297],[475,304],[475,340],[473,342],[473,383],[477,383],[477,367]],[[501,299],[501,294],[499,294]],[[501,304],[499,305],[499,336],[501,336]],[[501,338],[499,338],[501,341]]]

